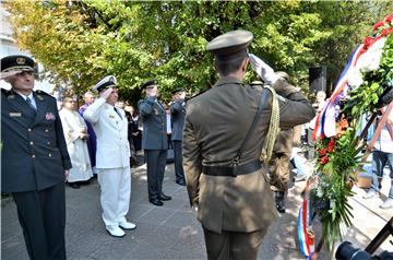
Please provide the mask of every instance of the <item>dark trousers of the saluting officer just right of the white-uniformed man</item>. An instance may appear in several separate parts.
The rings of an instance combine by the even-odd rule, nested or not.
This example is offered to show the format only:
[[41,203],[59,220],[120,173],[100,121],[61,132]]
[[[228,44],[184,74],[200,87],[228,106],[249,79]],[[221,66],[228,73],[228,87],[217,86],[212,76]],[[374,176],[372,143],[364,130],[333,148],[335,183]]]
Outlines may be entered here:
[[163,194],[163,180],[167,158],[167,150],[145,150],[147,161],[148,199],[157,199]]

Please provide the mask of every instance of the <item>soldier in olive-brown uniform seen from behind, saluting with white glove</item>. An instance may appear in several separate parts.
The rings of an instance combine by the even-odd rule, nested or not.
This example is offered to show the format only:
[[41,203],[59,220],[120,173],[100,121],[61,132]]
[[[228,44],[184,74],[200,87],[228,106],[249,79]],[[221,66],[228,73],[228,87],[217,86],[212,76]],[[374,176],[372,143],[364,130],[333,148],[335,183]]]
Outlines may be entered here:
[[[183,167],[190,203],[198,209],[209,259],[257,259],[258,248],[277,211],[260,155],[272,113],[272,95],[242,82],[253,36],[233,31],[209,43],[219,80],[188,101],[183,129]],[[255,59],[254,59],[255,60]],[[253,64],[279,94],[279,127],[303,123],[312,106],[267,64]],[[273,75],[272,75],[273,73]],[[238,156],[261,103],[266,102],[252,134]],[[296,111],[296,113],[294,113]]]

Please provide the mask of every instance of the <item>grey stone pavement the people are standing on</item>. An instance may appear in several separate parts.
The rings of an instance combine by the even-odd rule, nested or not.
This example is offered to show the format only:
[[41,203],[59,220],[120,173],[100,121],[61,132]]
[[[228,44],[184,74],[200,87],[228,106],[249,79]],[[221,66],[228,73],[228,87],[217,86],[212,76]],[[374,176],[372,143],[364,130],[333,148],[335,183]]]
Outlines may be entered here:
[[[68,259],[206,259],[202,228],[189,208],[186,188],[175,184],[174,165],[167,165],[164,180],[164,192],[172,200],[164,206],[148,203],[145,170],[145,165],[132,168],[128,220],[138,228],[127,231],[123,238],[110,237],[105,231],[100,218],[99,186],[95,179],[81,189],[66,188]],[[296,229],[303,186],[305,181],[296,182],[289,190],[287,213],[270,228],[259,259],[305,259],[297,249]],[[380,199],[365,201],[361,199],[365,191],[358,188],[355,191],[358,194],[350,200],[354,226],[345,239],[364,249],[392,217],[393,210],[382,211],[378,208]],[[386,194],[386,190],[382,192]],[[382,249],[393,251],[393,246],[386,240],[380,251]],[[28,259],[15,205],[10,198],[1,200],[1,259]]]

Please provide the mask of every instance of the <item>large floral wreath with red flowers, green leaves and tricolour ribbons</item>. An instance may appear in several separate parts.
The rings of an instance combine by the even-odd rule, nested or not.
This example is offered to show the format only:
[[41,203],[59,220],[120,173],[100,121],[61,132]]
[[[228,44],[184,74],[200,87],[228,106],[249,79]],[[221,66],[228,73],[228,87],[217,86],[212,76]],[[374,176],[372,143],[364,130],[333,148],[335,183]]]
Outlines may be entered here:
[[[343,237],[343,225],[352,225],[348,198],[362,166],[367,146],[362,134],[369,127],[365,115],[376,114],[381,97],[393,87],[393,14],[373,25],[372,37],[359,45],[341,74],[331,98],[315,120],[314,174],[308,179],[299,210],[298,235],[301,252],[314,253],[312,216],[322,224],[322,240],[330,258]],[[318,252],[319,249],[317,249]]]

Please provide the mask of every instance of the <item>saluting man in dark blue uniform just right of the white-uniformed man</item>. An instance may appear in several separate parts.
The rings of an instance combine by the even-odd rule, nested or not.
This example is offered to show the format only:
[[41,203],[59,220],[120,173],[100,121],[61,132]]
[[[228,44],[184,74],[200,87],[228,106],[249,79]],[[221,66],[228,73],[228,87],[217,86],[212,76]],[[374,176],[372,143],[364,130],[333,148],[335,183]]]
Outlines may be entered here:
[[146,98],[139,101],[138,107],[143,122],[142,149],[147,161],[148,201],[160,206],[164,204],[163,201],[171,198],[163,192],[168,138],[166,111],[157,99],[157,80],[150,80],[142,85]]

